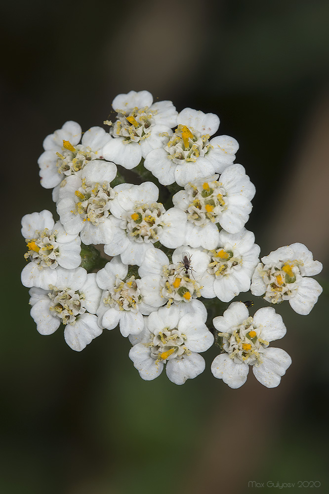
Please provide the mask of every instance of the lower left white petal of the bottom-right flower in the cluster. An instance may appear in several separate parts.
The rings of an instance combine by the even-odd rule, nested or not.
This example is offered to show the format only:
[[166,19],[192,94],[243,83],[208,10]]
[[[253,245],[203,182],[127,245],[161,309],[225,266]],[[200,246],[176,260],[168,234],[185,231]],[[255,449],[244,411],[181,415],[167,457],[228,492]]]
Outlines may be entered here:
[[223,379],[230,388],[237,389],[247,381],[249,366],[245,363],[236,364],[227,353],[222,353],[213,360],[211,372],[217,379]]

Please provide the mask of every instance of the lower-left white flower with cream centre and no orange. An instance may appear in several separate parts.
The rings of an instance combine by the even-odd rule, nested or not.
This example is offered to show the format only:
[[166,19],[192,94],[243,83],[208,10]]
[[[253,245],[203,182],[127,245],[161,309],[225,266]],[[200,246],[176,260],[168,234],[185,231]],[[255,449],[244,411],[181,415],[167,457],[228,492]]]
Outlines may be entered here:
[[102,290],[96,283],[96,274],[87,274],[82,267],[58,267],[55,272],[55,285],[47,290],[30,289],[31,316],[41,334],[52,334],[63,323],[66,343],[80,352],[102,333],[95,315]]

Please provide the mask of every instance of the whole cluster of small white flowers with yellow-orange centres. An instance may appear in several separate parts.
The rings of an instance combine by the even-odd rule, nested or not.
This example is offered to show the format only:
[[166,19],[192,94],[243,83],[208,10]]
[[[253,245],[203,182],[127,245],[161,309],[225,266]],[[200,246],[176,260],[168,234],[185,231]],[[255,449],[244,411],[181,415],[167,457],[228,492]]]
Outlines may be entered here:
[[[63,325],[66,343],[82,351],[119,327],[140,376],[155,379],[165,367],[175,384],[205,370],[200,353],[215,343],[214,377],[238,388],[252,366],[259,382],[277,386],[291,359],[269,347],[286,333],[275,309],[251,316],[252,304],[232,302],[211,325],[206,305],[218,311],[250,289],[306,315],[322,291],[310,278],[321,263],[297,243],[259,260],[245,228],[255,187],[235,163],[238,142],[213,136],[217,115],[178,113],[148,91],[119,94],[112,107],[105,128],[82,132],[69,121],[43,141],[41,185],[52,189],[59,220],[47,210],[22,218],[21,280],[38,331]],[[126,183],[125,170],[139,185]]]

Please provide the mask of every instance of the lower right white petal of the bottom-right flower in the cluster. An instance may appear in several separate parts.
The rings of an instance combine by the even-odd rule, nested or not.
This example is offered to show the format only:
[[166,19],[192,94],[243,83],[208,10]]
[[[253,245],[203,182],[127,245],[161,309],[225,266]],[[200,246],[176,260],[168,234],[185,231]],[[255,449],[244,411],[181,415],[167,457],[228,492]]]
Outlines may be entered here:
[[263,363],[252,367],[254,376],[267,388],[275,388],[291,364],[291,359],[281,348],[264,348],[262,357]]

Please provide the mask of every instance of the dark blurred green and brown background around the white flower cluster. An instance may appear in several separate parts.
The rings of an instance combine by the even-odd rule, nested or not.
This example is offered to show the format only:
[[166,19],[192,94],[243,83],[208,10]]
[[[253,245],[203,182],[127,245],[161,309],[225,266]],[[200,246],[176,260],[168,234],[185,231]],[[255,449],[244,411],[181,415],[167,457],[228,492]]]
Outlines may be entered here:
[[131,89],[218,114],[256,186],[247,228],[261,255],[305,243],[328,280],[328,1],[31,0],[1,10],[0,492],[275,489],[249,481],[329,492],[328,289],[307,317],[277,308],[288,328],[277,346],[293,362],[280,386],[264,388],[250,371],[231,390],[210,373],[215,348],[201,376],[176,386],[165,373],[143,381],[118,330],[82,353],[60,330],[41,336],[20,284],[20,219],[55,213],[39,182],[43,138],[66,120],[101,125]]

